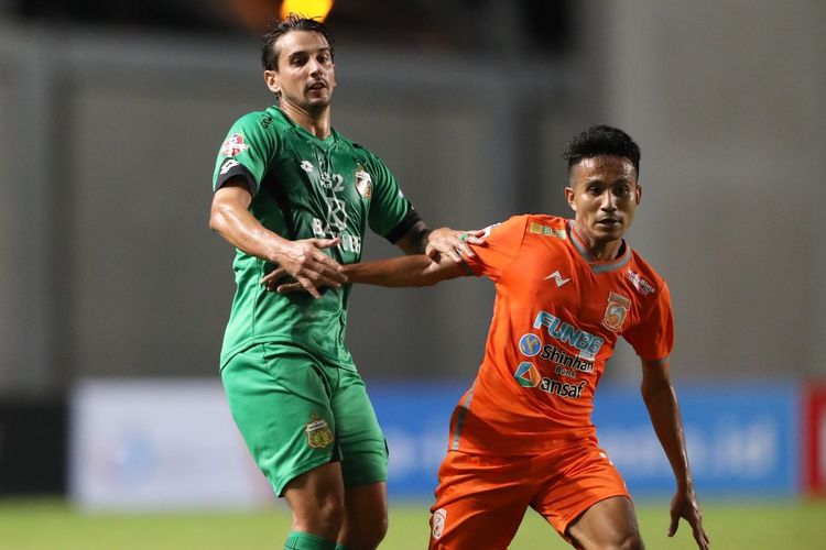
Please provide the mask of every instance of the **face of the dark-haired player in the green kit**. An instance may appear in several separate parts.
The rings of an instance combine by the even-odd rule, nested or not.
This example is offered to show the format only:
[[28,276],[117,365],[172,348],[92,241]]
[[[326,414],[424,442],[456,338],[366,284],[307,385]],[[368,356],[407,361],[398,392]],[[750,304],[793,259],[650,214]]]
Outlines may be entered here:
[[307,112],[329,107],[336,73],[329,44],[318,33],[293,31],[275,44],[279,70],[265,70],[264,79],[272,91],[281,94],[281,103]]

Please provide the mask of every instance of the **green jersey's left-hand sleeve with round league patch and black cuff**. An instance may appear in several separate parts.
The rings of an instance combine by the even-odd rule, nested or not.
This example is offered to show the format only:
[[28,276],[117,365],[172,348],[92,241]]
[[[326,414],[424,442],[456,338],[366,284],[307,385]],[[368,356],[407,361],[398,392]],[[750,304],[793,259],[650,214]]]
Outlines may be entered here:
[[240,176],[247,179],[252,196],[258,194],[278,147],[271,122],[270,116],[262,111],[244,114],[232,124],[215,162],[214,191],[230,178]]

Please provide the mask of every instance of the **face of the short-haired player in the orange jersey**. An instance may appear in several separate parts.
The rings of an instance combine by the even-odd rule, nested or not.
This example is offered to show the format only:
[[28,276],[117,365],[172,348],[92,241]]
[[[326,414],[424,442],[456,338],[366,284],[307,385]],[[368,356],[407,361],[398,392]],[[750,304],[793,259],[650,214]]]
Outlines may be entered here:
[[588,241],[617,241],[628,231],[642,187],[631,161],[620,156],[585,158],[570,168],[565,197],[577,231]]

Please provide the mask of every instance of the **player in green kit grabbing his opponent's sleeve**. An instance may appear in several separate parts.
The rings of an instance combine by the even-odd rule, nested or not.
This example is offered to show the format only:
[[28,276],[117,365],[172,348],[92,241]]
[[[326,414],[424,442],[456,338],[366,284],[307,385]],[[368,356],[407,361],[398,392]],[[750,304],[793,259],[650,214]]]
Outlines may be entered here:
[[[209,227],[237,249],[221,380],[292,510],[285,548],[372,549],[387,532],[388,452],[344,341],[341,264],[360,260],[368,226],[407,254],[472,252],[461,232],[428,230],[388,167],[332,128],[334,44],[322,23],[291,15],[262,54],[278,105],[239,119],[215,167]],[[268,292],[261,278],[276,267],[306,293]]]

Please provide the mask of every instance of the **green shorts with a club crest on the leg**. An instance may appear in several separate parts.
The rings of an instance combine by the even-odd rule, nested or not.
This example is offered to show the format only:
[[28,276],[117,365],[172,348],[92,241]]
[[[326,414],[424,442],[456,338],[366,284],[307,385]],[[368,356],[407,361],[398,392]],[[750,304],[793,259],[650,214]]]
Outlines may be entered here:
[[264,343],[229,360],[221,380],[232,418],[275,495],[333,461],[341,462],[345,486],[387,481],[387,442],[355,369]]

